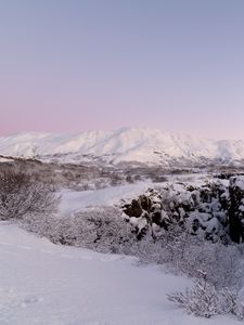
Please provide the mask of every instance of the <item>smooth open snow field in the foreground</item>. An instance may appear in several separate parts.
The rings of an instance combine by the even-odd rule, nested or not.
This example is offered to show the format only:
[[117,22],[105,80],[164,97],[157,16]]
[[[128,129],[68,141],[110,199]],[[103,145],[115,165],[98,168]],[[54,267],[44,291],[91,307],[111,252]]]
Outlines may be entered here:
[[196,318],[166,294],[190,281],[137,260],[51,244],[0,223],[1,325],[237,325]]

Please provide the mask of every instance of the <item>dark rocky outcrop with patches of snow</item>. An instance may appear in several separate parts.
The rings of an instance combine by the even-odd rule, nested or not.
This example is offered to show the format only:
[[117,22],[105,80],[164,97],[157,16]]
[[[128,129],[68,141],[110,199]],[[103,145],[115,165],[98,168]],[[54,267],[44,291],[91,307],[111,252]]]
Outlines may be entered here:
[[138,238],[149,229],[155,235],[155,230],[178,225],[214,243],[244,242],[244,177],[197,186],[168,183],[150,188],[121,208],[136,224]]

